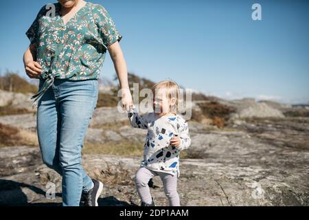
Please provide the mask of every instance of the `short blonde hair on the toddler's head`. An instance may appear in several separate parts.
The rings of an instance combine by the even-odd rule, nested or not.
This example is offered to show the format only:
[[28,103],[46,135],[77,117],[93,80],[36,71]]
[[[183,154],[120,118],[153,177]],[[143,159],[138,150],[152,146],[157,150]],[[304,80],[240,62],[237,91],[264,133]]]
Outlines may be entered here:
[[177,106],[179,102],[179,85],[172,80],[163,80],[152,86],[152,94],[155,96],[156,91],[159,89],[164,89],[165,95],[167,96],[169,102],[172,98],[175,98],[175,104],[169,104],[169,111],[172,113],[177,113]]

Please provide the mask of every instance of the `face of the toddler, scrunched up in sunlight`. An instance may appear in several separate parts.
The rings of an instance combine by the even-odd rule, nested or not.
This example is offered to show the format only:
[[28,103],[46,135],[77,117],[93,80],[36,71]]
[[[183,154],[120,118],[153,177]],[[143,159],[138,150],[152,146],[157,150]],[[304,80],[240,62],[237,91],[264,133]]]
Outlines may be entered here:
[[165,89],[157,89],[155,94],[153,94],[153,109],[155,110],[155,113],[169,113],[170,105],[175,103],[174,100],[174,98],[171,100],[168,99]]

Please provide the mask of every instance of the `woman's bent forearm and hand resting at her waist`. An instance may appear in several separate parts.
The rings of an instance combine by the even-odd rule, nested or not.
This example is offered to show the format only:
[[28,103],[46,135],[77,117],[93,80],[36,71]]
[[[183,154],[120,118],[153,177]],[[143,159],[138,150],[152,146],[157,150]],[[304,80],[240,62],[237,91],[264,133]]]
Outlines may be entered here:
[[38,78],[42,72],[41,65],[36,62],[36,47],[33,44],[30,44],[23,54],[23,65],[27,76],[30,78]]

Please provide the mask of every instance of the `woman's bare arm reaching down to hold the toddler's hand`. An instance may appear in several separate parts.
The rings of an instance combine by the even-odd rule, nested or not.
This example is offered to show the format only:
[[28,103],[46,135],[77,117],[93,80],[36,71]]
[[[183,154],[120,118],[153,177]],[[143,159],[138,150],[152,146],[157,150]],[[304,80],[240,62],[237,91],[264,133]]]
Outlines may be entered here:
[[116,41],[112,45],[109,45],[108,52],[114,63],[115,71],[119,79],[119,85],[122,89],[122,108],[129,111],[129,109],[133,107],[133,100],[130,93],[130,87],[128,85],[128,70],[126,68],[126,61],[124,60],[124,54],[122,53],[119,42]]

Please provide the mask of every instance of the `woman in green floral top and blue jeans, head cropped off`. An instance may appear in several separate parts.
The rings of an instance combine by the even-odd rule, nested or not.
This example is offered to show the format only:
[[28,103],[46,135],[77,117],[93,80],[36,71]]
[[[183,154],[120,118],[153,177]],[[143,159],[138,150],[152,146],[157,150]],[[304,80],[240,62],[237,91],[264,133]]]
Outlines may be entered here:
[[102,183],[82,168],[82,146],[98,100],[98,78],[106,51],[122,88],[122,104],[130,109],[122,36],[100,4],[58,0],[44,5],[26,32],[30,39],[23,62],[30,78],[38,78],[37,132],[43,162],[62,175],[63,206],[98,206]]

